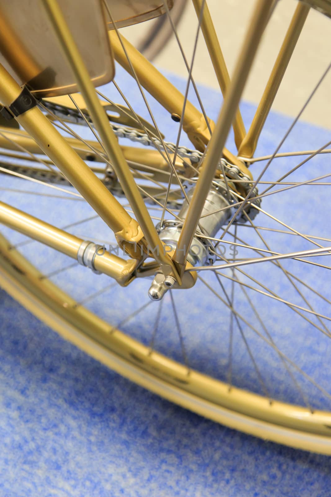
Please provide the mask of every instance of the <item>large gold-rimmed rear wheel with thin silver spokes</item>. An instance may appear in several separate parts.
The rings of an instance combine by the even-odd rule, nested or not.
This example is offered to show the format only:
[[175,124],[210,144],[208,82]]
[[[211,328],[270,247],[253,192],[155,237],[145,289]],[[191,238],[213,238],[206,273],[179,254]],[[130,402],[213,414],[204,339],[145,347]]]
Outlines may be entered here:
[[[204,31],[207,40],[208,34],[213,36],[210,20],[203,18],[199,10],[201,6],[205,8],[205,3],[198,0],[194,3],[199,14],[199,27]],[[270,9],[272,2],[269,3]],[[267,2],[260,1],[259,4],[263,7]],[[270,11],[264,8],[266,22]],[[308,7],[299,4],[289,28],[291,40],[299,35],[307,14]],[[262,32],[263,29],[261,34]],[[116,32],[111,33],[113,48],[117,60],[125,67],[123,54],[121,55],[125,46],[119,44],[119,41],[116,42],[116,36]],[[293,49],[293,45],[291,46]],[[129,45],[126,48],[128,47]],[[139,67],[136,66],[135,69],[137,73]],[[239,72],[241,76],[246,72],[244,69]],[[217,70],[221,71],[220,66],[217,69],[215,63],[215,71]],[[189,72],[191,75],[190,66]],[[137,78],[142,84],[143,74],[137,74]],[[148,80],[152,77],[146,78]],[[280,76],[279,78],[281,79]],[[317,82],[317,86],[321,81]],[[222,84],[224,85],[224,82]],[[229,82],[225,78],[225,86],[227,85]],[[150,86],[149,89],[151,90]],[[128,119],[133,115],[141,125],[141,118],[135,112],[130,114],[132,107],[129,102],[124,103],[127,104],[125,109],[115,105],[115,110],[117,108],[119,112],[124,113],[122,118]],[[107,104],[112,105],[114,111],[114,103],[108,100]],[[184,98],[184,106],[188,107],[188,111],[192,111],[190,105]],[[55,126],[61,126],[66,131],[70,119],[72,122],[73,118],[77,118],[76,121],[80,118],[84,128],[77,128],[73,124],[67,143],[87,161],[90,170],[101,178],[112,192],[120,198],[122,196],[122,204],[130,211],[133,206],[127,205],[116,175],[109,167],[103,144],[99,137],[96,141],[96,136],[93,136],[95,132],[93,133],[91,128],[88,112],[79,110],[82,107],[83,104],[79,105],[79,95],[74,95],[71,103],[67,100],[59,102],[48,99],[40,104],[40,108],[48,114]],[[228,109],[230,107],[231,105]],[[233,107],[237,142],[243,135],[243,124],[237,112],[237,105]],[[162,136],[158,152],[146,149],[146,152],[139,153],[141,149],[126,146],[122,148],[134,171],[136,184],[144,194],[151,219],[160,223],[158,233],[164,243],[168,244],[179,244],[180,230],[184,230],[183,221],[188,216],[189,207],[188,202],[185,204],[185,200],[183,201],[183,190],[190,200],[190,206],[195,206],[196,190],[191,185],[198,184],[197,177],[201,178],[199,167],[203,168],[204,164],[207,164],[203,162],[205,156],[202,147],[203,137],[207,135],[203,131],[197,138],[185,124],[185,119],[181,119],[185,112],[186,110],[172,114],[174,120],[179,118],[181,121],[180,131],[183,126],[195,147],[202,149],[195,151],[197,162],[190,160],[188,163],[190,154],[184,149],[179,157],[174,158],[179,151],[177,145],[174,155],[169,156],[173,166],[175,165],[171,168],[167,163],[169,157],[164,152]],[[261,108],[259,112],[261,115]],[[268,109],[264,109],[264,112],[267,114]],[[116,123],[114,119],[113,123]],[[121,119],[121,114],[118,119]],[[19,118],[17,120],[20,121]],[[232,120],[226,121],[230,127]],[[146,130],[147,119],[143,123],[143,129]],[[20,124],[26,124],[24,118]],[[253,128],[261,128],[260,132],[264,124],[264,119],[257,119]],[[149,126],[150,133],[158,133],[156,121]],[[290,130],[291,126],[292,124],[289,126]],[[134,131],[134,128],[132,129]],[[118,135],[121,133],[123,135],[123,129]],[[307,137],[309,131],[299,125],[298,133],[299,137],[303,133],[306,133]],[[79,142],[80,135],[82,141]],[[308,161],[302,161],[302,164],[298,165],[295,161],[300,154],[291,153],[292,159],[288,159],[288,164],[279,167],[275,173],[272,171],[273,175],[268,176],[266,171],[270,171],[268,167],[271,161],[274,158],[281,160],[281,154],[276,157],[280,147],[277,146],[275,152],[271,150],[266,159],[262,156],[254,159],[251,152],[256,144],[254,145],[254,139],[249,139],[252,135],[256,138],[256,133],[252,132],[250,135],[249,132],[239,147],[239,157],[245,160],[237,159],[226,152],[226,161],[220,163],[217,176],[213,176],[213,186],[206,192],[204,202],[208,205],[202,205],[204,210],[199,217],[195,237],[203,257],[199,257],[200,253],[197,251],[190,252],[189,271],[193,274],[198,272],[196,284],[193,288],[174,288],[168,292],[162,287],[165,295],[156,303],[147,297],[151,284],[149,278],[154,276],[155,264],[145,266],[145,272],[136,272],[136,278],[132,282],[121,280],[123,287],[115,287],[117,284],[113,280],[109,281],[106,274],[97,276],[87,267],[78,266],[72,261],[67,264],[66,256],[75,252],[75,244],[81,240],[93,240],[100,245],[115,245],[116,242],[114,238],[109,242],[110,231],[100,217],[95,213],[92,215],[93,211],[91,212],[84,199],[68,186],[70,181],[61,176],[59,169],[41,155],[42,151],[24,132],[1,128],[3,162],[0,170],[5,174],[1,183],[3,202],[0,204],[0,221],[5,225],[1,230],[5,237],[0,238],[0,285],[66,339],[141,386],[198,414],[246,433],[293,447],[330,454],[331,412],[327,406],[331,396],[327,391],[328,378],[323,376],[323,369],[327,371],[328,365],[331,302],[329,289],[325,288],[322,274],[327,274],[326,261],[331,248],[328,234],[324,231],[326,217],[318,211],[319,204],[314,204],[320,202],[321,198],[323,201],[328,198],[327,183],[323,182],[330,175],[327,171],[328,154],[320,154],[322,151],[326,152],[327,145],[321,150],[317,148],[300,153],[309,159],[318,156],[318,174],[312,175],[310,164],[306,169],[303,167]],[[322,135],[320,132],[320,137]],[[180,136],[179,132],[178,137]],[[133,133],[133,137],[137,139],[139,135]],[[52,148],[52,141],[50,142]],[[188,145],[187,147],[190,148]],[[218,152],[214,146],[209,156],[215,153]],[[159,155],[156,157],[155,154]],[[139,160],[134,160],[137,157]],[[16,159],[16,162],[12,162],[12,159]],[[90,161],[96,161],[98,166]],[[259,163],[263,166],[257,168],[252,177],[251,170],[254,166],[250,169],[247,166],[255,163],[257,167]],[[49,170],[48,166],[52,169]],[[298,171],[298,176],[291,176],[290,182],[284,181],[295,171]],[[34,187],[38,184],[41,188],[39,192],[32,189],[32,186],[26,186],[29,178],[34,182],[33,184],[30,181],[29,185]],[[176,183],[177,179],[179,182]],[[320,186],[312,186],[316,181],[319,181]],[[62,185],[56,186],[52,183]],[[55,189],[60,188],[61,195],[57,192],[57,195],[53,193],[48,196],[45,189],[50,185]],[[271,193],[276,185],[280,185],[280,188],[276,190],[278,193],[275,197]],[[256,186],[259,187],[259,192],[255,190]],[[297,187],[301,187],[304,193],[293,199],[292,190],[300,190]],[[305,187],[310,187],[308,194]],[[315,193],[317,188],[322,190],[319,195]],[[178,193],[178,190],[182,192]],[[314,191],[310,193],[311,190]],[[253,195],[249,197],[252,192]],[[72,234],[71,245],[68,241],[70,247],[66,252],[62,250],[65,255],[54,250],[54,247],[42,248],[37,242],[30,242],[25,238],[31,223],[34,222],[33,219],[29,218],[31,223],[24,227],[24,223],[27,223],[25,213],[11,210],[5,205],[6,203],[14,208],[21,208],[19,202],[15,203],[15,195],[18,193],[25,193],[27,198],[39,195],[38,203],[30,202],[26,205],[26,212],[30,216],[42,218],[50,225],[60,225],[70,234],[77,226],[86,229],[85,223],[89,221],[93,221],[93,229],[87,225],[88,233]],[[247,202],[246,196],[253,200]],[[262,198],[263,204],[260,202]],[[276,200],[272,201],[274,198]],[[306,199],[309,204],[304,218],[300,215],[280,219],[281,215],[289,215],[292,212],[289,213],[286,208],[281,210],[278,198],[282,198],[283,204],[290,198],[292,212],[301,214],[303,200]],[[219,215],[224,212],[230,212],[231,215],[225,218]],[[318,222],[311,219],[314,213],[317,214]],[[260,227],[255,224],[255,218],[260,219],[262,216],[265,216],[267,221],[264,219],[265,223]],[[65,222],[60,222],[59,218]],[[204,221],[209,218],[213,219],[212,228]],[[317,231],[307,234],[304,229],[312,226]],[[44,235],[34,238],[52,247],[52,236],[55,240],[55,234],[50,232],[46,241],[47,227],[43,227]],[[255,238],[247,232],[254,233]],[[270,233],[281,236],[282,241],[272,239],[274,245],[269,246],[271,238],[268,238],[267,234]],[[61,233],[59,236],[61,238]],[[242,236],[246,237],[245,240]],[[291,238],[295,239],[296,245],[290,250],[288,247],[292,246],[288,240]],[[205,240],[211,243],[206,246],[206,242],[203,242]],[[326,242],[327,245],[321,245],[320,242]],[[202,243],[204,245],[201,245]],[[60,242],[58,246],[60,247]],[[230,257],[226,252],[219,251],[222,246],[232,247]],[[236,248],[242,249],[242,256],[238,257]],[[256,253],[261,257],[252,255]],[[287,262],[283,264],[282,259]],[[93,263],[101,264],[97,255]],[[194,270],[194,266],[198,271]],[[245,271],[242,266],[246,266]],[[302,275],[302,266],[305,268],[305,275]],[[204,276],[205,274],[207,276]],[[286,282],[287,287],[282,288],[282,293],[279,294],[277,288],[282,284],[282,280]],[[252,281],[255,286],[252,286]],[[320,282],[318,289],[316,281]],[[240,296],[235,291],[234,283],[241,288]],[[128,286],[125,286],[127,284]],[[155,286],[156,283],[153,284]],[[291,291],[295,297],[291,295]],[[198,298],[194,300],[193,295]],[[254,297],[256,295],[258,298]],[[314,301],[312,295],[316,297]],[[273,308],[269,307],[269,300],[274,303]],[[109,302],[113,305],[109,306]],[[168,311],[165,306],[168,306]],[[203,313],[202,324],[198,324],[199,313]],[[272,325],[270,332],[269,327]],[[224,332],[220,333],[225,326],[226,337]],[[146,329],[149,330],[148,333]],[[175,333],[171,333],[172,331]],[[302,332],[302,337],[297,340],[299,331]],[[290,343],[293,344],[290,346]],[[324,366],[322,359],[325,361]],[[313,368],[311,364],[307,364],[309,362],[313,362]],[[312,369],[315,378],[310,374]]]

